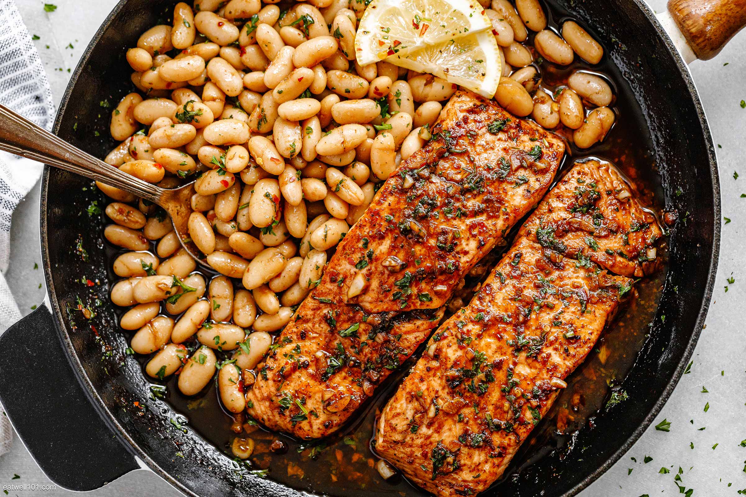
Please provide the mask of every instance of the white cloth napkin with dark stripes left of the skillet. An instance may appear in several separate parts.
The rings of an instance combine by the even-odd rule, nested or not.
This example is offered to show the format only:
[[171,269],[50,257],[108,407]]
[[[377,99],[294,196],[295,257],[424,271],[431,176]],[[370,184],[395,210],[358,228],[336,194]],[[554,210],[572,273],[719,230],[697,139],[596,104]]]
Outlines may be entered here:
[[[13,0],[0,0],[0,103],[51,129],[54,101],[37,49]],[[10,219],[34,187],[43,165],[0,152],[0,333],[21,319],[5,281],[10,258]],[[0,415],[0,455],[10,450],[13,428]]]

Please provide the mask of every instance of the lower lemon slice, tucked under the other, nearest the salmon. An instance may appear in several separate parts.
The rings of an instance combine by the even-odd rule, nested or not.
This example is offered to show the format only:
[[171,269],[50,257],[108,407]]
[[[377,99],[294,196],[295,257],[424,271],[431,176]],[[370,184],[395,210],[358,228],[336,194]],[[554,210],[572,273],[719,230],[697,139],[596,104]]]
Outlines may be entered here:
[[397,54],[386,62],[416,72],[429,72],[486,98],[495,96],[502,72],[492,31],[451,39],[403,56]]

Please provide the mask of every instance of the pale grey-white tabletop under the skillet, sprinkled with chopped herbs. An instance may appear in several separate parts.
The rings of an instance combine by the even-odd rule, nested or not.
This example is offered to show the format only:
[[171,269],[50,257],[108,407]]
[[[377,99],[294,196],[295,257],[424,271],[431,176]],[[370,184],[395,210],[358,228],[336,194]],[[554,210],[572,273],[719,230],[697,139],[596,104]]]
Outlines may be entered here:
[[[665,0],[648,2],[654,10],[665,8]],[[58,8],[53,13],[46,13],[43,3],[42,0],[16,0],[29,31],[40,37],[35,43],[46,63],[54,97],[59,101],[69,78],[68,69],[75,68],[90,37],[116,1],[54,0]],[[723,226],[715,296],[706,329],[695,350],[691,373],[683,376],[656,420],[668,419],[671,431],[656,431],[651,425],[627,455],[580,494],[583,497],[679,495],[674,482],[679,467],[683,469],[680,484],[686,489],[695,489],[695,496],[738,496],[739,490],[746,489],[746,447],[739,445],[746,439],[746,341],[742,335],[746,317],[742,247],[746,240],[746,198],[741,197],[746,193],[746,165],[743,163],[746,110],[740,105],[742,99],[746,99],[743,85],[746,34],[733,39],[715,60],[695,62],[691,69],[715,143],[722,145],[718,148],[718,162],[723,215],[731,220]],[[734,171],[742,177],[734,179]],[[34,264],[40,262],[38,209],[37,186],[13,216],[7,281],[24,314],[44,296],[44,289],[39,287],[43,282],[41,270],[34,269]],[[742,263],[739,265],[738,261]],[[729,285],[730,277],[736,282]],[[703,387],[709,393],[702,393]],[[709,411],[704,412],[706,402],[709,402]],[[702,426],[706,426],[706,430],[698,431]],[[713,449],[715,443],[718,446]],[[653,460],[644,463],[645,456]],[[662,466],[671,472],[661,474]],[[20,478],[11,480],[14,474]],[[13,450],[0,458],[0,485],[11,483],[48,484],[17,438]],[[51,494],[72,495],[65,490],[54,490]],[[92,495],[168,497],[181,494],[151,472],[137,471],[95,490]],[[551,489],[547,489],[545,495],[552,496]]]

